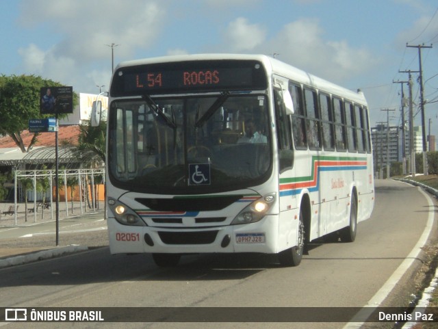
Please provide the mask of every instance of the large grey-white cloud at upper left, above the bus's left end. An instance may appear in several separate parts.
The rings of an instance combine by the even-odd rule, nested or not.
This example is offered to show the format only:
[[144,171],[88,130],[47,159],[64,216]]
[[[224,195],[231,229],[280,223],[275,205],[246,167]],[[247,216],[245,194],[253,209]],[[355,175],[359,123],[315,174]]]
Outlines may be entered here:
[[[95,60],[107,55],[105,44],[123,44],[118,51],[130,55],[136,47],[151,47],[162,27],[164,9],[155,1],[31,1],[23,7],[25,25],[50,24],[63,40],[59,55]],[[48,23],[50,22],[50,23]],[[51,38],[51,36],[47,36]]]

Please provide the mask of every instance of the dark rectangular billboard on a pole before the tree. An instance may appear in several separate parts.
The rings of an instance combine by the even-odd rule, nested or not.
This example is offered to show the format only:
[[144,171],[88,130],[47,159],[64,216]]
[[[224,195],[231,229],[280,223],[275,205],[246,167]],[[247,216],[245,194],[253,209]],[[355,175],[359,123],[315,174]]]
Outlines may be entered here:
[[40,89],[40,114],[73,113],[73,87]]

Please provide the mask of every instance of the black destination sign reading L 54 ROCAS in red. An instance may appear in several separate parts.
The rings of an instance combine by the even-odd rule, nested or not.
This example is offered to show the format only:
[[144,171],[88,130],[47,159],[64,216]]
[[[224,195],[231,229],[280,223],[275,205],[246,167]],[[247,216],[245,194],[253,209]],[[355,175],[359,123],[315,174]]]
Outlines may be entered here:
[[119,68],[114,74],[112,96],[201,92],[222,90],[262,90],[266,73],[257,61],[191,61],[146,64]]

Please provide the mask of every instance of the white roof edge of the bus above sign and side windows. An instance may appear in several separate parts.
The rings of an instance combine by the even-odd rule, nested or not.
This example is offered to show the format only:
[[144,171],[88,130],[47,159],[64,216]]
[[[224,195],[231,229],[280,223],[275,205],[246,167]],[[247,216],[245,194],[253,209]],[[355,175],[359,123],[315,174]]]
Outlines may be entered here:
[[265,66],[268,75],[275,74],[285,77],[292,81],[308,85],[312,88],[327,92],[340,97],[348,98],[350,101],[367,105],[363,92],[354,92],[340,85],[311,75],[310,73],[300,70],[295,66],[276,60],[268,55],[246,55],[246,54],[232,54],[232,53],[204,53],[193,55],[170,55],[162,57],[151,57],[142,60],[131,60],[127,62],[120,62],[114,69],[128,66],[139,66],[145,64],[169,63],[169,62],[186,62],[186,61],[201,61],[201,60],[258,60]]

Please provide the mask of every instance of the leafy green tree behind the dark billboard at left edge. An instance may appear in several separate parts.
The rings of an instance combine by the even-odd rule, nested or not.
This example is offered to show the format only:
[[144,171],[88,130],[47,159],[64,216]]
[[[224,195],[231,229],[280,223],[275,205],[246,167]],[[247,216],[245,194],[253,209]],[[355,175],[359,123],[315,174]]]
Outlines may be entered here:
[[[34,133],[29,145],[24,144],[21,132],[28,129],[29,119],[53,116],[40,114],[40,89],[57,86],[62,84],[34,75],[0,77],[0,133],[9,135],[21,152],[29,152],[39,135]],[[73,94],[73,106],[76,103],[77,95]]]

